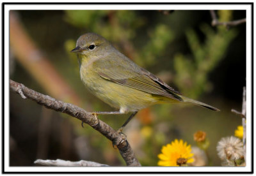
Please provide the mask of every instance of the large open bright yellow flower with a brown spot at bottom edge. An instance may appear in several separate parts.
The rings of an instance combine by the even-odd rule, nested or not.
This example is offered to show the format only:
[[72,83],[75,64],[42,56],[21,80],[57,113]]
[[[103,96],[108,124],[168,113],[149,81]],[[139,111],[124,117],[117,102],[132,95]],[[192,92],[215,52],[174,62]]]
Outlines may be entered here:
[[164,145],[161,149],[160,159],[157,163],[159,166],[184,166],[186,163],[194,161],[191,153],[191,145],[183,140],[175,139],[174,142]]

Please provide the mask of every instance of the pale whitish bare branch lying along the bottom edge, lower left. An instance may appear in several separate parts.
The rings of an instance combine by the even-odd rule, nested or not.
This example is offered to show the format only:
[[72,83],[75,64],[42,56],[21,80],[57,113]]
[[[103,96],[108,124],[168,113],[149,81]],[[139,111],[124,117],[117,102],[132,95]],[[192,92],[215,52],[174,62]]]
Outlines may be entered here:
[[43,166],[109,166],[109,165],[103,165],[100,163],[96,163],[93,161],[65,161],[62,159],[56,159],[56,160],[50,160],[50,159],[36,159],[34,162],[37,165],[43,165]]

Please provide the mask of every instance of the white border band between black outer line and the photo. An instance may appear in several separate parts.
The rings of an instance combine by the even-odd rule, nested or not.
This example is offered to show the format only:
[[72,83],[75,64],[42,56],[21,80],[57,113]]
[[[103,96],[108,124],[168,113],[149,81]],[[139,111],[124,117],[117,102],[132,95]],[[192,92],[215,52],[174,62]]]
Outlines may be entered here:
[[[9,166],[9,11],[10,10],[246,10],[246,167],[16,167]],[[252,9],[250,4],[5,4],[4,5],[4,171],[6,172],[250,172],[252,124]],[[2,146],[3,147],[3,146]],[[2,156],[3,157],[3,156]],[[2,168],[3,169],[3,168]]]

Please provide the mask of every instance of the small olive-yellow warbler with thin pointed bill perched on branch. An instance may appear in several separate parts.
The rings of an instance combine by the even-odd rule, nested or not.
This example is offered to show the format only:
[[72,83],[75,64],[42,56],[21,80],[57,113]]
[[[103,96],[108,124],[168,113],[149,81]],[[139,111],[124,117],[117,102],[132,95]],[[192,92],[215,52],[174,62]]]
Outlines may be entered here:
[[94,114],[132,112],[120,131],[138,110],[159,103],[193,103],[219,111],[210,105],[182,96],[161,79],[132,62],[98,34],[83,34],[71,52],[77,53],[83,84],[99,99],[119,109],[118,112]]

